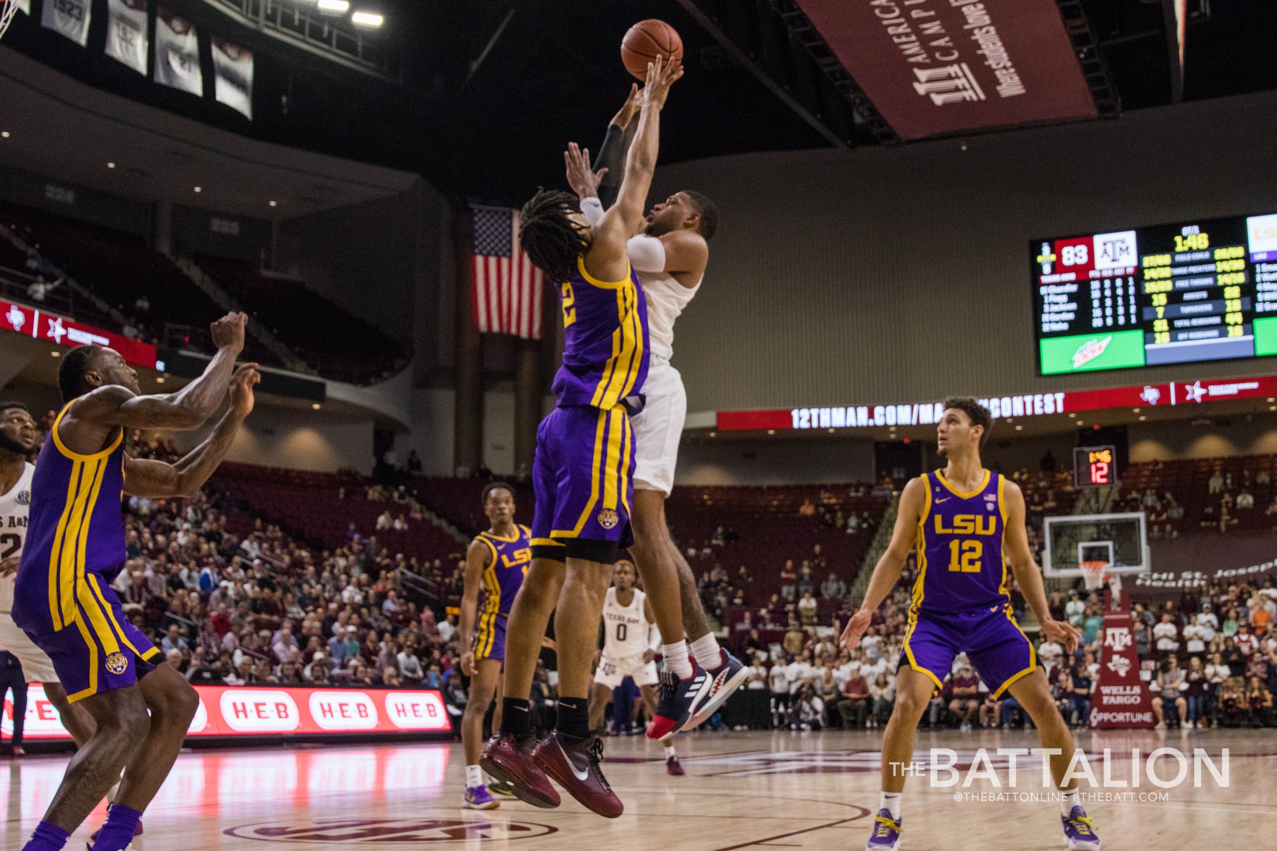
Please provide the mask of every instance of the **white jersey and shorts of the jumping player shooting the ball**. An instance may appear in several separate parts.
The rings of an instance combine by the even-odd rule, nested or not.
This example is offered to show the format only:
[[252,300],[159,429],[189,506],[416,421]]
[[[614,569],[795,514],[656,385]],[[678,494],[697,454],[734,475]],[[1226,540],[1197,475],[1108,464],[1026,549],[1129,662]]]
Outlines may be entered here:
[[669,496],[678,464],[678,441],[683,439],[683,421],[687,420],[683,376],[669,364],[674,355],[674,320],[696,296],[701,282],[684,287],[667,272],[638,272],[638,282],[647,297],[651,365],[642,385],[644,410],[630,417],[635,435],[633,482],[636,490],[655,490]]

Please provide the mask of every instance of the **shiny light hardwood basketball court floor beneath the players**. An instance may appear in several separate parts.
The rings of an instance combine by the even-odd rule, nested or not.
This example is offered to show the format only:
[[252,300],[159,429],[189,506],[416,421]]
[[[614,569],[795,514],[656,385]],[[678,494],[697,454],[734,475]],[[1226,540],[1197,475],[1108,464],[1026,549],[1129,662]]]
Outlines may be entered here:
[[[1089,753],[1121,751],[1111,773],[1130,781],[1130,749],[1189,754],[1183,786],[1165,801],[1089,803],[1105,848],[1277,847],[1277,731],[1079,734]],[[571,799],[557,810],[517,801],[476,813],[461,804],[460,744],[303,746],[197,750],[181,755],[147,810],[142,851],[277,851],[512,848],[630,851],[679,848],[863,848],[879,801],[879,732],[697,732],[678,740],[686,777],[665,774],[658,745],[642,737],[609,739],[605,771],[626,804],[603,819]],[[955,801],[955,792],[1008,792],[1006,758],[997,748],[1037,745],[1033,732],[945,731],[918,736],[928,748],[958,751],[958,767],[985,748],[1002,788],[976,780],[967,790],[930,787],[913,777],[904,797],[907,851],[1059,848],[1059,805],[1050,801]],[[1203,769],[1193,787],[1191,753],[1203,748],[1222,766],[1228,786]],[[66,757],[0,762],[0,851],[17,851],[47,805]],[[1019,758],[1022,792],[1041,792],[1041,762]],[[1101,780],[1098,763],[1094,767]],[[1175,763],[1158,763],[1170,778]],[[1098,791],[1098,790],[1097,790]],[[1121,792],[1124,790],[1110,790]],[[1133,790],[1126,788],[1131,792]],[[1161,792],[1144,778],[1134,792]],[[102,808],[73,837],[78,851],[102,820]]]

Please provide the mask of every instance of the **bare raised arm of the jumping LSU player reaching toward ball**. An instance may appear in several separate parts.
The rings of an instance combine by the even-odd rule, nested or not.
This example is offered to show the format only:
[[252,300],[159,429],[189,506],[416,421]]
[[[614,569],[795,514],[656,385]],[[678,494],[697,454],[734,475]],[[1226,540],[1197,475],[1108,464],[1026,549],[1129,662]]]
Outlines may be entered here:
[[626,157],[624,180],[621,182],[617,203],[594,227],[594,241],[585,260],[590,274],[605,281],[616,281],[628,268],[626,241],[638,230],[647,191],[651,189],[651,176],[656,171],[660,111],[665,106],[669,87],[682,75],[682,65],[665,65],[659,56],[647,66],[647,84],[642,89],[638,129]]

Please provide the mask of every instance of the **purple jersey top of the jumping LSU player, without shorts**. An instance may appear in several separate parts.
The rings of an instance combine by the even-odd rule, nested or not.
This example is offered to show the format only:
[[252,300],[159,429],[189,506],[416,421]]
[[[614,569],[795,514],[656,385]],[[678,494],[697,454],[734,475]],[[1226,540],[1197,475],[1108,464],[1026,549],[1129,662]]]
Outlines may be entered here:
[[618,404],[642,410],[647,378],[647,300],[635,270],[621,281],[599,281],[577,258],[577,272],[559,285],[563,307],[563,365],[554,376],[561,407]]

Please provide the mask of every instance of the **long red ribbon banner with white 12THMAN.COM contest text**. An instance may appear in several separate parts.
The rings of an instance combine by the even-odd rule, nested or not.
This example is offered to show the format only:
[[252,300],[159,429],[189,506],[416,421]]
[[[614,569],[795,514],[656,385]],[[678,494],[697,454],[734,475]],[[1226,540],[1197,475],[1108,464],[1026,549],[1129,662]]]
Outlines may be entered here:
[[[1140,408],[1176,404],[1202,404],[1225,399],[1249,399],[1277,396],[1277,375],[1218,381],[1171,381],[1139,384],[1105,390],[1069,390],[1061,393],[1025,393],[991,396],[979,403],[994,418],[1032,417],[1052,413],[1080,413],[1107,408]],[[849,404],[821,408],[787,408],[778,411],[719,411],[719,431],[803,430],[803,429],[873,429],[881,426],[931,425],[944,412],[941,402],[908,402],[903,404]]]

